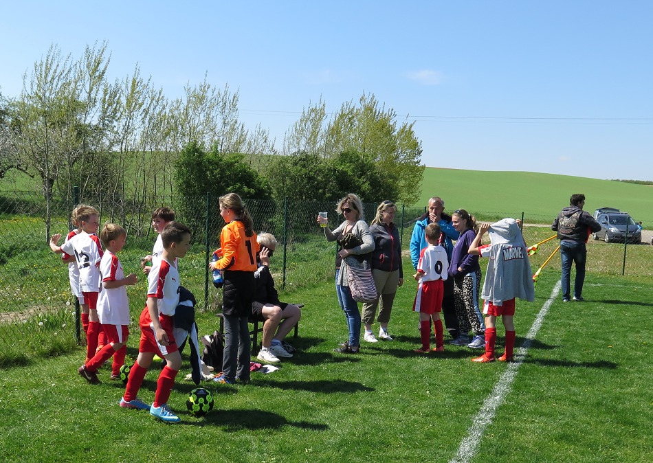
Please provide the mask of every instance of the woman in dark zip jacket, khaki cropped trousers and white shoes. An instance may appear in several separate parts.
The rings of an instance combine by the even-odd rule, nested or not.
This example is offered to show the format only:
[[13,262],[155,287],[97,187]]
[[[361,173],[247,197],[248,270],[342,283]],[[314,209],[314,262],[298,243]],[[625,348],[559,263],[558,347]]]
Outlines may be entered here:
[[379,301],[379,339],[392,341],[388,335],[388,321],[392,311],[392,302],[395,301],[397,288],[403,284],[403,265],[401,264],[401,242],[399,230],[392,222],[395,219],[397,206],[392,201],[384,201],[377,207],[377,215],[370,225],[370,233],[374,238],[374,251],[372,252],[372,277],[377,287],[379,297],[374,302],[363,304],[363,326],[365,334],[363,339],[368,342],[377,342],[372,332],[372,324],[377,313]]

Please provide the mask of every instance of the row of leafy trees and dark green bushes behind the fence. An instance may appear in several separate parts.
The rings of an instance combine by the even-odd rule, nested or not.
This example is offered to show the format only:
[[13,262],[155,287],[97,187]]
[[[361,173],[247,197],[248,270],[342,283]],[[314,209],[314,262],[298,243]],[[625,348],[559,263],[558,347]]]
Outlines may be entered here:
[[[239,120],[239,92],[203,82],[167,98],[140,68],[110,81],[107,43],[81,58],[51,45],[23,74],[16,97],[0,93],[0,179],[19,170],[53,194],[133,210],[154,196],[234,191],[253,199],[337,199],[412,204],[423,166],[413,123],[364,93],[329,115],[309,104],[280,150],[267,129]],[[47,206],[49,207],[49,206]]]

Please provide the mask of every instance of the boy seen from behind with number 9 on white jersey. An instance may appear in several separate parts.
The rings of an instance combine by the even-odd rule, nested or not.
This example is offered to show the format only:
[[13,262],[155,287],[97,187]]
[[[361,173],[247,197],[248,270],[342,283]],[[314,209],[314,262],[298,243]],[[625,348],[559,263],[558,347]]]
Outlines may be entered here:
[[438,244],[440,240],[440,227],[436,223],[430,223],[424,229],[424,236],[428,247],[421,250],[417,262],[417,273],[412,278],[419,282],[417,295],[412,310],[419,312],[419,332],[422,341],[421,348],[414,349],[418,354],[430,352],[430,321],[433,320],[435,332],[434,352],[444,350],[444,336],[440,312],[442,311],[442,299],[444,296],[444,281],[449,275],[449,259],[447,251]]

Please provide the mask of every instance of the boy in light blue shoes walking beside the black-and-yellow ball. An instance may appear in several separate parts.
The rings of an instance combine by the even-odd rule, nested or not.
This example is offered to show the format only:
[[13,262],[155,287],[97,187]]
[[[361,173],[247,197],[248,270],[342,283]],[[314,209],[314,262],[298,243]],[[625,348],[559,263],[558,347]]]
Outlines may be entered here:
[[[161,258],[155,260],[147,278],[147,303],[139,320],[141,339],[138,357],[129,372],[120,406],[149,409],[150,414],[159,420],[179,422],[179,416],[168,407],[168,398],[181,368],[181,354],[173,334],[175,309],[179,304],[177,259],[188,252],[190,229],[181,223],[170,222],[162,230],[161,240],[164,250]],[[154,402],[150,406],[137,398],[137,393],[155,355],[166,359],[166,366],[159,374]]]

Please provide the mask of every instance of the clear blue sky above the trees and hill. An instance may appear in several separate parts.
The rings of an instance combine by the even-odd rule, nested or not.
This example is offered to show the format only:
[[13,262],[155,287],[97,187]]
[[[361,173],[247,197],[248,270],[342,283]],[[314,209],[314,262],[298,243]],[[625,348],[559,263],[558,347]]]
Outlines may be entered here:
[[208,81],[280,148],[305,106],[373,93],[427,166],[653,180],[652,1],[14,1],[0,91],[51,44],[108,41],[168,98]]

